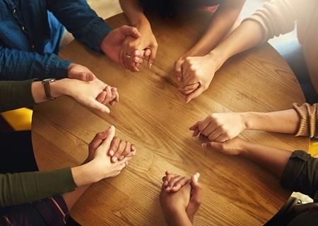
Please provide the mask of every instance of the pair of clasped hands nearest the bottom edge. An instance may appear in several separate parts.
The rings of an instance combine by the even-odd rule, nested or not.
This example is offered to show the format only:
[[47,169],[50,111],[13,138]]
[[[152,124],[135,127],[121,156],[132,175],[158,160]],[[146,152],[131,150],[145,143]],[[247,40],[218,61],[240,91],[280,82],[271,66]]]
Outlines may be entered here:
[[[189,179],[166,172],[165,177],[163,177],[160,203],[167,218],[178,215],[176,213],[185,212],[189,220],[193,222],[194,215],[199,210],[201,204],[201,184],[198,183],[199,176],[199,173],[196,173]],[[175,192],[169,192],[167,191],[167,187],[178,187],[178,189]]]

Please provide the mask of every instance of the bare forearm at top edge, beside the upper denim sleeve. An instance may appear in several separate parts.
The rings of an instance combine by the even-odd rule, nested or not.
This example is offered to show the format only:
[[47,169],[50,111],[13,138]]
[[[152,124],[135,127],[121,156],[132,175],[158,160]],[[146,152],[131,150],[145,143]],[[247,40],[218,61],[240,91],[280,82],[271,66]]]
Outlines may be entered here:
[[151,28],[139,0],[119,0],[119,3],[131,26],[139,30],[143,27]]

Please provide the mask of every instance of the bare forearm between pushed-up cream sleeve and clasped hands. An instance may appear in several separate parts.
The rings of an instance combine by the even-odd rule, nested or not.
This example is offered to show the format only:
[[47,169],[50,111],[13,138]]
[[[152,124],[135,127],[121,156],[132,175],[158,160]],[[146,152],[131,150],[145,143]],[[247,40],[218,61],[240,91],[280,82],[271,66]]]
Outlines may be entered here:
[[259,45],[261,40],[260,25],[254,21],[245,21],[210,52],[218,60],[216,68],[219,69],[231,56]]

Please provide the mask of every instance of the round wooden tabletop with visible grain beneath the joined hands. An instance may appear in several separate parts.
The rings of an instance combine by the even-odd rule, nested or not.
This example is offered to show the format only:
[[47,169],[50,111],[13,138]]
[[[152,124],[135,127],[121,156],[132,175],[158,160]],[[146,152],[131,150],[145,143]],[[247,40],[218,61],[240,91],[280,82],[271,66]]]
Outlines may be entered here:
[[[71,211],[81,225],[166,225],[159,193],[165,170],[201,173],[203,203],[194,225],[263,225],[287,201],[290,192],[277,177],[240,157],[201,148],[188,128],[211,112],[278,111],[305,101],[295,75],[269,44],[231,58],[199,98],[185,103],[173,75],[175,60],[204,31],[211,15],[152,17],[158,56],[149,70],[130,73],[106,56],[72,42],[63,58],[86,65],[119,89],[110,115],[92,111],[69,97],[40,104],[33,113],[33,146],[40,170],[80,164],[88,143],[112,124],[117,136],[134,142],[137,155],[123,172],[88,189]],[[123,14],[107,20],[127,23]],[[237,40],[240,42],[240,40]],[[251,142],[290,151],[307,150],[309,139],[268,132],[243,132]]]

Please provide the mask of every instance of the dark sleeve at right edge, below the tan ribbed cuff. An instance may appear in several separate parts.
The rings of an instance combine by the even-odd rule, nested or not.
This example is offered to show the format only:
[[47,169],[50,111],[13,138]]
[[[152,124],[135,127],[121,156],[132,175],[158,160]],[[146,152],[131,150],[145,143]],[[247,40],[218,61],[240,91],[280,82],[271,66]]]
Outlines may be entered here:
[[318,201],[318,159],[305,151],[294,151],[283,172],[281,184]]

